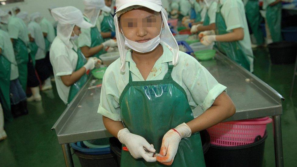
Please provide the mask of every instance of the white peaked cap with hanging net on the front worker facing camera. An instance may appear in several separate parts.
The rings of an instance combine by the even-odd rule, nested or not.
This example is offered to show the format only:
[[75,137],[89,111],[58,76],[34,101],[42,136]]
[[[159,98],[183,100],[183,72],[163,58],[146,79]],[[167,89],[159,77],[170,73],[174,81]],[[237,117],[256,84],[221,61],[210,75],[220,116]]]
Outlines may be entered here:
[[[161,30],[161,35],[160,35],[161,43],[164,43],[168,47],[170,47],[170,50],[173,54],[172,64],[176,65],[178,63],[179,49],[178,49],[177,42],[169,29],[169,26],[167,23],[167,20],[168,20],[167,12],[165,9],[162,8],[161,0],[117,0],[116,13],[121,13],[121,11],[125,10],[126,8],[129,8],[135,5],[140,5],[140,6],[152,9],[153,11],[156,11],[156,12],[161,12],[162,20],[165,26]],[[117,45],[118,45],[120,57],[121,57],[121,64],[122,64],[121,72],[124,72],[125,66],[126,66],[126,55],[130,48],[128,48],[125,45],[124,35],[119,32],[119,23],[118,23],[117,14],[114,16],[114,23],[116,26]]]

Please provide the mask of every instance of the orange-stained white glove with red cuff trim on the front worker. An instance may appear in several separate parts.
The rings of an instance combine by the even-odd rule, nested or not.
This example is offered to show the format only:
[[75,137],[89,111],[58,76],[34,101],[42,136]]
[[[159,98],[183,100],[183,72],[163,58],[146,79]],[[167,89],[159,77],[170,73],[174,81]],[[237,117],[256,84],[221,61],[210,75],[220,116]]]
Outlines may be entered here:
[[184,137],[190,137],[192,131],[186,123],[178,125],[174,129],[170,129],[163,137],[160,155],[157,161],[164,165],[171,165],[177,153],[180,140]]

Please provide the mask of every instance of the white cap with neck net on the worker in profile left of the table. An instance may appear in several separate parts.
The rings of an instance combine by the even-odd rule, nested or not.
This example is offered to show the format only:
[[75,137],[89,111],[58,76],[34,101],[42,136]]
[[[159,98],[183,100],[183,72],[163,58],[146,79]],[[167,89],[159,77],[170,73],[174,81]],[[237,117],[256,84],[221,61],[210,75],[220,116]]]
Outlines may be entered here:
[[92,26],[92,24],[85,21],[82,12],[73,6],[52,9],[51,14],[58,21],[57,36],[68,47],[72,47],[69,40],[75,25],[80,28],[90,28]]

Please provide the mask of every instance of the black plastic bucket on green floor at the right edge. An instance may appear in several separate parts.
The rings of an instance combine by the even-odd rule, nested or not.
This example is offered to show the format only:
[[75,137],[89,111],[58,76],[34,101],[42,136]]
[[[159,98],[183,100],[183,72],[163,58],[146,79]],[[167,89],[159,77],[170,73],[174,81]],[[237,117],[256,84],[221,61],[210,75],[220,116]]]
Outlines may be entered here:
[[297,43],[295,42],[275,42],[268,44],[271,63],[290,64],[295,63],[297,54]]

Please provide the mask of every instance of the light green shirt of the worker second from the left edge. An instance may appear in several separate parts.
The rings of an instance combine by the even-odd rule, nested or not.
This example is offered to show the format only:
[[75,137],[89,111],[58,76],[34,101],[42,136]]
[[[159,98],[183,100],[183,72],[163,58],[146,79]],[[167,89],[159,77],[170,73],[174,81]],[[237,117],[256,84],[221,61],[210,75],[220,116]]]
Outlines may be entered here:
[[22,19],[11,16],[8,21],[8,34],[12,39],[21,39],[27,46],[29,44],[28,29]]

